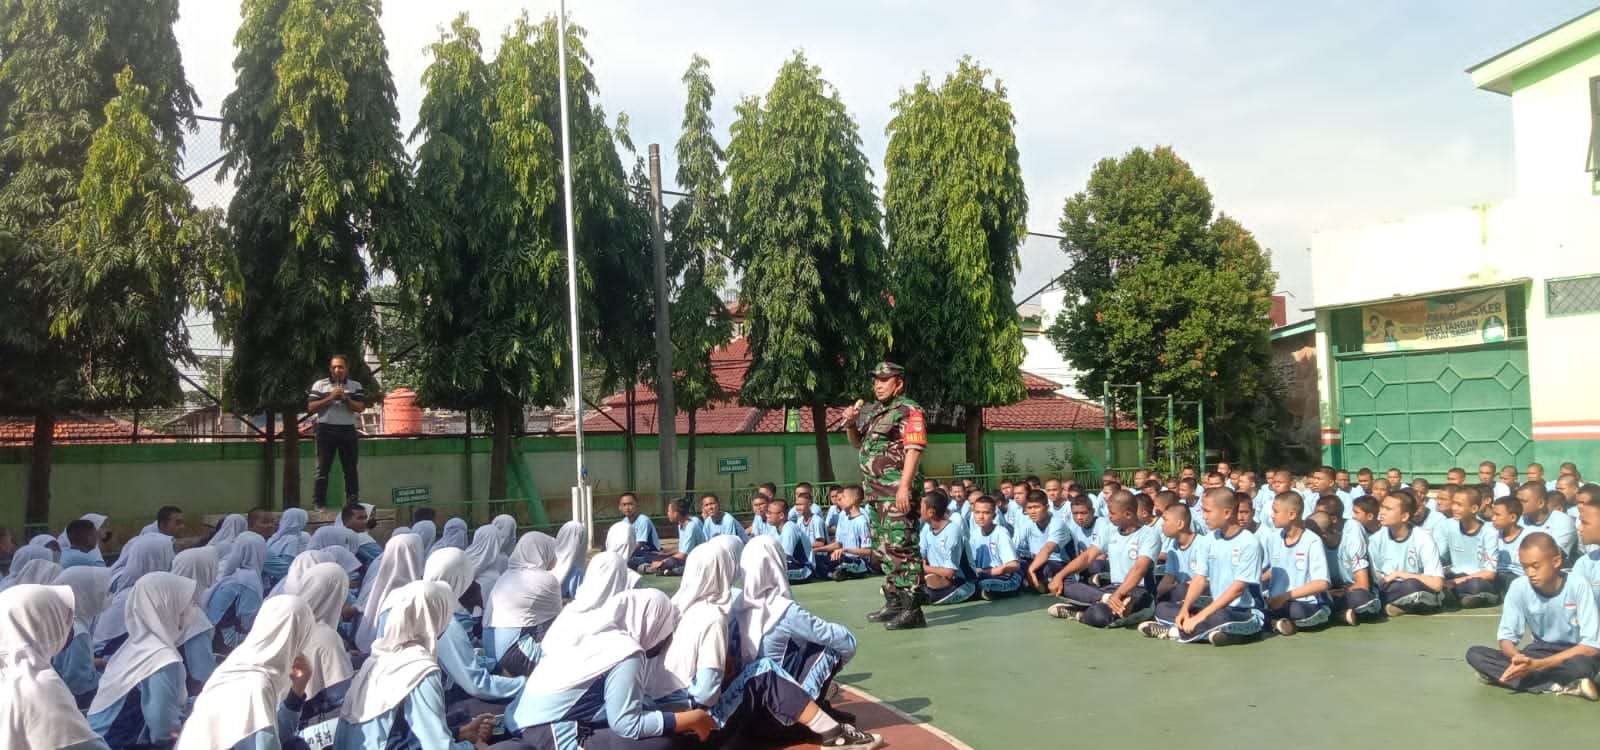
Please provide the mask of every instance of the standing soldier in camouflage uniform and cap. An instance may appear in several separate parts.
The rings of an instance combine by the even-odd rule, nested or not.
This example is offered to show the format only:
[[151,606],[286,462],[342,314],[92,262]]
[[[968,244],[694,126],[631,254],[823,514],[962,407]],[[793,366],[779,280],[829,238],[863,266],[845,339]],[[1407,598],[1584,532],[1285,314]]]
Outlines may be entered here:
[[845,433],[861,449],[861,489],[877,505],[872,545],[883,563],[883,609],[867,616],[888,630],[926,627],[922,616],[922,549],[917,541],[922,472],[928,446],[922,406],[906,398],[906,371],[891,361],[872,369],[877,400],[845,409]]

